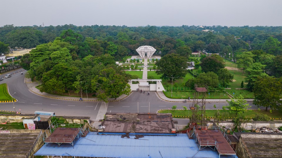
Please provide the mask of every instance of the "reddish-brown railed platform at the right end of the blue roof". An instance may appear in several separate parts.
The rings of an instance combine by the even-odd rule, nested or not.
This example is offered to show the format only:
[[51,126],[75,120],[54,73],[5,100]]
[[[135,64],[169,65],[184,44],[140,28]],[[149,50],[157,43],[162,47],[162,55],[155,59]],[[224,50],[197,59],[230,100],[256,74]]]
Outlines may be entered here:
[[201,147],[215,147],[220,155],[236,155],[220,130],[195,130],[195,137]]

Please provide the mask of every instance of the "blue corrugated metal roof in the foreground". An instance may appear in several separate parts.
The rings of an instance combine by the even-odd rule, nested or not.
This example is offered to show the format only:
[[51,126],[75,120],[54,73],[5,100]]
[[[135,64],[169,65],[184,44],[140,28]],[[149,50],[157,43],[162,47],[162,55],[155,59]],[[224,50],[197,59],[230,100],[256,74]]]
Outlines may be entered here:
[[[122,157],[122,158],[218,158],[217,151],[206,147],[199,151],[195,141],[186,134],[177,136],[144,136],[134,139],[121,135],[98,135],[90,132],[75,141],[75,145],[55,143],[43,145],[34,155],[80,156],[80,157]],[[234,155],[221,155],[234,158]]]

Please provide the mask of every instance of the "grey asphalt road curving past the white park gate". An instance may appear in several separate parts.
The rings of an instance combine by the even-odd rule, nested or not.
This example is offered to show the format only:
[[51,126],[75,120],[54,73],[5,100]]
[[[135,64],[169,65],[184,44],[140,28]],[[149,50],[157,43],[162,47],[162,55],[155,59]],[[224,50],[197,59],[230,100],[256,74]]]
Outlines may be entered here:
[[[12,74],[19,72],[19,69]],[[25,73],[26,71],[24,71]],[[0,75],[5,76],[6,74]],[[0,84],[7,83],[9,93],[18,101],[14,103],[0,103],[0,110],[16,111],[21,109],[21,113],[34,113],[35,111],[48,111],[55,112],[57,116],[89,116],[90,120],[95,120],[102,102],[93,101],[66,101],[53,98],[45,98],[33,94],[28,90],[28,87],[24,83],[24,76],[20,73],[13,74],[12,77],[0,81]],[[15,93],[16,92],[16,93]],[[15,93],[15,94],[14,94]],[[115,113],[156,113],[160,109],[168,109],[176,105],[177,109],[182,109],[182,106],[189,108],[191,103],[172,103],[162,101],[158,98],[155,92],[150,92],[150,96],[147,94],[141,94],[140,92],[133,92],[130,96],[119,102],[109,102],[107,112]],[[221,109],[227,103],[206,103],[206,109]],[[256,105],[249,103],[251,109],[257,109]],[[186,124],[186,120],[179,121],[178,125]]]

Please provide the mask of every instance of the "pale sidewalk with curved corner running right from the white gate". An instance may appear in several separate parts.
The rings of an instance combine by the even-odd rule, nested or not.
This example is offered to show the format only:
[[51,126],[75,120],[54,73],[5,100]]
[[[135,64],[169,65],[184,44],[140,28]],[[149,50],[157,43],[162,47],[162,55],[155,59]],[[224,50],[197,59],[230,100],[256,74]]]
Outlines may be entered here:
[[[161,98],[164,101],[168,102],[183,102],[185,99],[171,99],[167,98],[163,92],[157,92],[157,95],[159,98]],[[231,99],[206,99],[206,102],[212,102],[212,103],[217,103],[217,102],[224,102],[226,103],[226,100],[230,101]],[[253,102],[254,99],[246,99],[247,102]],[[191,98],[190,100],[186,99],[187,102],[193,102],[193,99]]]

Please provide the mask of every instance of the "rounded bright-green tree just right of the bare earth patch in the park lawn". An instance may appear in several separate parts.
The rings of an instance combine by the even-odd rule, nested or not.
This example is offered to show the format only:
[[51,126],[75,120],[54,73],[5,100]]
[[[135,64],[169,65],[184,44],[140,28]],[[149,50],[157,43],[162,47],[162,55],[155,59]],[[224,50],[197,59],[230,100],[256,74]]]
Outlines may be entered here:
[[248,67],[251,66],[251,64],[253,64],[254,59],[253,59],[254,55],[252,54],[252,52],[243,52],[240,55],[237,55],[237,65],[238,68],[244,70]]

